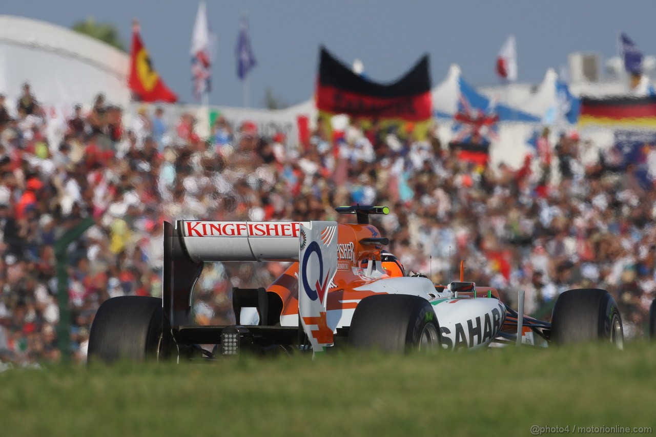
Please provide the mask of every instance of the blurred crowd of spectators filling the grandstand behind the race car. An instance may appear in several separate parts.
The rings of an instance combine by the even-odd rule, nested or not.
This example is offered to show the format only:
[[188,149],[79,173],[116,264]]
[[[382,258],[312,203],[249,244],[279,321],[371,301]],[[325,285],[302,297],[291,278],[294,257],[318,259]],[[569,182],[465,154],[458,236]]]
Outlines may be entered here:
[[[258,135],[255,123],[218,117],[208,138],[197,120],[142,106],[133,117],[99,95],[70,110],[50,144],[49,115],[29,85],[0,96],[0,362],[60,359],[56,241],[87,217],[66,248],[71,348],[83,362],[100,303],[161,295],[163,220],[338,220],[334,207],[390,206],[373,218],[406,270],[448,283],[497,287],[510,304],[548,318],[559,293],[608,289],[625,335],[644,331],[656,290],[656,191],[577,133],[548,132],[520,169],[462,161],[436,128],[354,120],[337,140],[318,119],[307,144]],[[125,119],[129,125],[124,125]],[[287,141],[291,140],[291,141]],[[291,144],[291,146],[290,146]],[[266,286],[285,265],[209,263],[196,285],[198,323],[229,323],[232,287]]]

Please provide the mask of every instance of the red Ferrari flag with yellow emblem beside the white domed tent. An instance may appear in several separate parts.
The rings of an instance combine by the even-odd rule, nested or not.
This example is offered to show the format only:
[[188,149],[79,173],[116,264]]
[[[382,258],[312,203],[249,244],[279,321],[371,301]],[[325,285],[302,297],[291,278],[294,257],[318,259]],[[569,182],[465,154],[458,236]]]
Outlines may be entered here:
[[140,102],[169,102],[178,100],[173,91],[164,84],[164,81],[155,72],[150,54],[144,47],[139,35],[139,24],[133,23],[132,47],[130,48],[130,76],[128,78],[134,100]]

